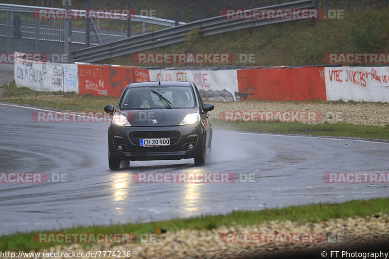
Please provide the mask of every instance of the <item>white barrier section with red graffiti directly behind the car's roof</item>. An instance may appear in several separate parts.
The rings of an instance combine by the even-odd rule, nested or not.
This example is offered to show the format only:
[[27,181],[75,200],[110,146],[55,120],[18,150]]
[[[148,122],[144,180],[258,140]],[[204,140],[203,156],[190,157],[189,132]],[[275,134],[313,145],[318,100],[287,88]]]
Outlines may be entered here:
[[[150,81],[159,80],[159,70],[149,70]],[[231,70],[161,70],[161,81],[194,82],[199,91],[208,92],[208,96],[217,98],[223,92],[230,94],[231,100],[236,101],[238,76],[236,69]]]

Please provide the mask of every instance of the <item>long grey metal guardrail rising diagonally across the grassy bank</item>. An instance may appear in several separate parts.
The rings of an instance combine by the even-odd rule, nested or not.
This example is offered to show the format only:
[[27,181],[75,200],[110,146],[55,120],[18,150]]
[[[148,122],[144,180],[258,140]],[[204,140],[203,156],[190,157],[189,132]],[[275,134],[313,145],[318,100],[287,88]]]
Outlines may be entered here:
[[[255,9],[308,9],[318,8],[318,0],[298,0],[289,3],[277,4],[272,6],[260,7]],[[221,16],[208,19],[189,22],[173,28],[163,29],[152,33],[133,36],[130,38],[118,40],[112,43],[103,44],[96,47],[71,52],[73,61],[78,62],[96,62],[125,54],[136,53],[149,50],[151,48],[167,46],[170,44],[185,41],[187,35],[192,29],[200,28],[201,35],[215,35],[234,30],[241,30],[250,27],[263,26],[287,22],[294,19],[225,19]]]

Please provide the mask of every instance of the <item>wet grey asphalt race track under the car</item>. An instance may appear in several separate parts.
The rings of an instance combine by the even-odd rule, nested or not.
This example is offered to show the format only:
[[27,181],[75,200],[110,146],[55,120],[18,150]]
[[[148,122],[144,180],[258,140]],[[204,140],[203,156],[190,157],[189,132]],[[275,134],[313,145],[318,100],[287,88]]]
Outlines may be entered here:
[[[135,161],[108,169],[109,122],[35,122],[0,104],[0,173],[67,182],[0,183],[0,236],[319,202],[388,197],[388,184],[330,184],[324,173],[389,172],[389,143],[214,130],[212,162]],[[134,173],[255,174],[249,183],[134,183]],[[241,174],[240,174],[241,173]]]

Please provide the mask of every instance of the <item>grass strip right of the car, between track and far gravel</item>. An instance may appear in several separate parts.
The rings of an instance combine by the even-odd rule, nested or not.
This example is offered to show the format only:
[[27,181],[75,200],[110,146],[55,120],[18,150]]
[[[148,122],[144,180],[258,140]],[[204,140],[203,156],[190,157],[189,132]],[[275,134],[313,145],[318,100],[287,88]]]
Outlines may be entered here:
[[351,123],[320,123],[306,124],[301,122],[256,122],[256,121],[219,121],[212,119],[215,129],[236,131],[273,133],[273,134],[300,134],[330,137],[380,138],[389,139],[389,125],[385,127],[355,125]]

